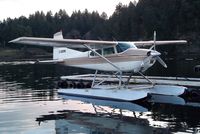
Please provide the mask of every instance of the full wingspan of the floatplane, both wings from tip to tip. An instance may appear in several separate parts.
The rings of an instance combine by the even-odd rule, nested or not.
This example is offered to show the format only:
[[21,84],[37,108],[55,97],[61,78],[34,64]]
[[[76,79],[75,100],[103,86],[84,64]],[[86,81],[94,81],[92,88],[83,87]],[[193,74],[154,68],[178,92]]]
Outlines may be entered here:
[[[116,41],[99,41],[99,40],[79,40],[79,39],[63,39],[62,31],[54,34],[54,38],[35,38],[35,37],[20,37],[10,41],[9,43],[19,43],[26,45],[37,46],[51,46],[51,47],[68,47],[72,49],[85,48],[84,45],[90,46],[93,49],[99,49],[109,46],[117,45]],[[133,41],[137,47],[152,46],[154,41]],[[156,41],[156,45],[165,44],[186,44],[185,40],[173,40],[173,41]]]

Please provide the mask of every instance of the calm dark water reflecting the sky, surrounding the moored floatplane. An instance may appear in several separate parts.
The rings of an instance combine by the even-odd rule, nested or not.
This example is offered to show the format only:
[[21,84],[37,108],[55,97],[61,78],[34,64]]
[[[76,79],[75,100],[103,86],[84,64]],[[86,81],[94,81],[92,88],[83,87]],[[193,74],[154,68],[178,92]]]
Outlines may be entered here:
[[[193,64],[165,75],[195,76]],[[178,71],[179,70],[179,71]],[[88,73],[59,65],[1,63],[0,133],[121,134],[195,133],[200,130],[200,105],[123,104],[123,108],[88,103],[57,95],[61,75]],[[156,73],[155,70],[148,74]],[[90,72],[91,73],[91,72]],[[126,107],[127,105],[127,107]]]

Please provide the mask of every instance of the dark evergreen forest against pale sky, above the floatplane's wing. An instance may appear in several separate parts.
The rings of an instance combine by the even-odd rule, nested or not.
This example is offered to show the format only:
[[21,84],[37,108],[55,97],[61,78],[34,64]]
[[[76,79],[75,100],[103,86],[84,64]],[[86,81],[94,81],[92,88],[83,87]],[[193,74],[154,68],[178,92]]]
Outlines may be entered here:
[[62,30],[64,38],[98,40],[186,39],[198,45],[200,40],[199,0],[139,0],[119,3],[114,13],[65,10],[55,14],[37,11],[29,17],[0,21],[0,44],[20,36],[52,37]]

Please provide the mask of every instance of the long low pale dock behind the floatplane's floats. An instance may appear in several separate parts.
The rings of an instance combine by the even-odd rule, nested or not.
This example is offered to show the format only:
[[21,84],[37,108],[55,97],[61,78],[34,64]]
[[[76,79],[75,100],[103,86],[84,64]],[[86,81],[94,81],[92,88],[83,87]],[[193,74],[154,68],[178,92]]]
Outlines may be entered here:
[[[92,81],[93,74],[85,74],[85,75],[72,75],[72,76],[62,76],[61,80],[73,80],[73,81]],[[96,77],[97,80],[101,81],[106,79],[107,75],[98,75]],[[186,86],[186,87],[200,87],[200,78],[184,78],[184,77],[158,77],[158,76],[148,76],[148,78],[154,82],[155,84],[165,84],[165,85],[178,85],[178,86]],[[122,80],[126,81],[128,76],[123,76]],[[118,79],[115,76],[107,79],[108,83],[117,83]],[[146,79],[141,76],[132,76],[130,80],[130,84],[146,84],[148,83]]]

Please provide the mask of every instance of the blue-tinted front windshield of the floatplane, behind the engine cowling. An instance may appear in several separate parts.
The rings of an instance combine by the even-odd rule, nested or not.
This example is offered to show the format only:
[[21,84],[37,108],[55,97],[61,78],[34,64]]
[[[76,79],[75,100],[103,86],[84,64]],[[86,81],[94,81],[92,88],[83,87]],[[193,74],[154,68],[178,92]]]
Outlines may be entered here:
[[129,48],[135,48],[135,46],[131,43],[127,43],[127,42],[119,42],[116,45],[116,50],[117,53],[121,53],[124,52],[125,50],[129,49]]

